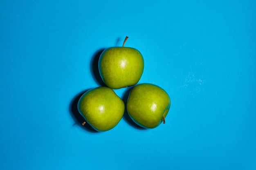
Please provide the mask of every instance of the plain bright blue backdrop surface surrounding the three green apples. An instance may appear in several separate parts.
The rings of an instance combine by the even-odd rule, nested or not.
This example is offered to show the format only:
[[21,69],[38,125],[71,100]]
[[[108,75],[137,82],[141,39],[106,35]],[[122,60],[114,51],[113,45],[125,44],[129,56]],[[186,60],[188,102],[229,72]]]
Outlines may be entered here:
[[[0,1],[0,169],[255,170],[253,0]],[[110,46],[138,49],[166,124],[107,132],[76,104]],[[126,98],[128,89],[115,91]]]

